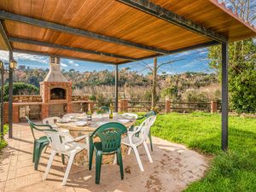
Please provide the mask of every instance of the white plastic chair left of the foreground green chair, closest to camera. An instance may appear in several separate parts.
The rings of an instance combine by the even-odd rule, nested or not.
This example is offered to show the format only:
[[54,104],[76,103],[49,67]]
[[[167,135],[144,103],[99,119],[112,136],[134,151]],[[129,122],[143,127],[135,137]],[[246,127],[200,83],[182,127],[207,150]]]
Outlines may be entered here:
[[[49,139],[49,143],[51,145],[52,151],[49,156],[49,161],[44,172],[43,179],[45,180],[48,177],[50,166],[54,160],[55,154],[64,154],[68,156],[67,169],[63,178],[62,185],[67,183],[67,177],[70,172],[71,166],[73,164],[73,159],[76,154],[78,154],[83,149],[87,150],[89,154],[89,143],[88,143],[88,135],[80,136],[73,138],[68,133],[61,131],[44,131],[46,136]],[[86,138],[87,143],[78,143],[80,140]]]

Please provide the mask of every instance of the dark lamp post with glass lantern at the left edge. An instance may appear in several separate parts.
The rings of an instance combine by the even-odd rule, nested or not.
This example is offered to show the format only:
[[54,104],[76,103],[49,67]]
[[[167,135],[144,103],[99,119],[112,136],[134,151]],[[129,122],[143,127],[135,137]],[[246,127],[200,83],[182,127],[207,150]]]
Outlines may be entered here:
[[[9,69],[4,69],[4,64],[9,64]],[[14,59],[9,60],[9,63],[3,61],[0,61],[0,70],[1,70],[1,137],[3,138],[3,86],[4,86],[4,73],[9,73],[9,102],[11,102],[12,105],[12,84],[13,84],[13,72],[15,68],[17,67],[17,62]],[[10,98],[11,97],[11,98]],[[10,108],[9,105],[9,113],[12,113],[12,108]],[[12,118],[12,115],[9,115],[9,119]],[[12,121],[10,123],[9,127],[9,137],[12,137]]]

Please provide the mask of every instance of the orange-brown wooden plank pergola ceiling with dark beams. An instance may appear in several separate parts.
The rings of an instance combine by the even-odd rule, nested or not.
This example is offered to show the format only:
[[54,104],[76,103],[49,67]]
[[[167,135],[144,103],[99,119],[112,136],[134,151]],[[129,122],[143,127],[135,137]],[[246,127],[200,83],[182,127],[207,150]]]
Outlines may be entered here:
[[0,19],[0,49],[111,64],[256,36],[218,0],[2,0]]

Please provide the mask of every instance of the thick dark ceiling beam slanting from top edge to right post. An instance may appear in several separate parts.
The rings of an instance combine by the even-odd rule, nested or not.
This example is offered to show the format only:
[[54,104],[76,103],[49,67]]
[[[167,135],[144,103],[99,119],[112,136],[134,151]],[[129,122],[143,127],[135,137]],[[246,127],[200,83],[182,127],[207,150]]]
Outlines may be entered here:
[[214,41],[219,43],[225,43],[228,41],[228,38],[224,37],[217,32],[212,31],[211,29],[198,25],[192,20],[187,20],[183,16],[177,15],[174,12],[161,7],[155,3],[150,2],[149,0],[117,0],[120,3],[125,3],[133,8],[139,9],[149,15],[154,15],[161,20],[166,20],[173,25],[183,27],[190,32],[195,32],[199,35],[202,35],[206,38],[211,38]]

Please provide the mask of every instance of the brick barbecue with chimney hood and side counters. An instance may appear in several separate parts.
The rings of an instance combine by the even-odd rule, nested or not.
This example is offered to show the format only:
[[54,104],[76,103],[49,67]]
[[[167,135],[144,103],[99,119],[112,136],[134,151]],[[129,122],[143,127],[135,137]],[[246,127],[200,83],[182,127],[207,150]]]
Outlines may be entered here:
[[[93,108],[88,96],[73,96],[72,82],[61,73],[60,58],[49,57],[49,73],[40,82],[40,95],[13,96],[13,122],[18,123],[28,116],[31,119],[44,119],[61,116],[64,113],[84,112]],[[8,102],[4,103],[5,123],[8,122]]]

